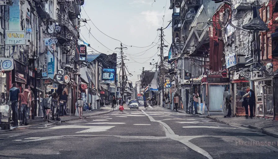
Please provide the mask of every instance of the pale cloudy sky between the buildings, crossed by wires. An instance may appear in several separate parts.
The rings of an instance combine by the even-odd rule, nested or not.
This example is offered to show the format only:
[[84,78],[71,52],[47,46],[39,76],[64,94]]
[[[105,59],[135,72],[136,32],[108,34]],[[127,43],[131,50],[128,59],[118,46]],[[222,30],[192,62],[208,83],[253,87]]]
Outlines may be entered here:
[[[169,24],[168,21],[172,20],[173,12],[169,10],[170,0],[155,0],[155,2],[154,0],[105,0],[105,2],[85,0],[83,7],[81,7],[81,18],[91,19],[91,21],[87,21],[87,24],[81,24],[81,26],[85,24],[88,28],[86,26],[80,27],[81,39],[90,43],[91,47],[98,52],[104,54],[115,52],[118,57],[120,54],[116,51],[119,51],[119,49],[115,50],[115,48],[120,47],[120,42],[114,39],[120,40],[125,45],[138,47],[149,46],[152,42],[160,43],[160,31],[158,32],[157,29],[163,26],[166,27]],[[102,34],[93,24],[114,39]],[[89,34],[89,30],[92,34]],[[164,30],[164,35],[164,39],[171,43],[171,25]],[[164,44],[169,45],[166,41]],[[146,48],[126,46],[128,49],[124,50],[124,55],[127,56],[128,60],[125,60],[124,63],[132,74],[132,76],[128,76],[128,80],[132,81],[133,86],[138,81],[138,75],[142,73],[142,67],[145,67],[145,70],[150,70],[154,67],[150,65],[150,62],[160,61],[159,56],[157,56],[160,51],[157,52],[158,45],[155,43]],[[169,50],[169,48],[170,45],[166,49]],[[149,50],[145,53],[147,49]],[[164,56],[167,55],[168,51],[164,50]],[[117,70],[119,71],[119,69]],[[155,67],[153,70],[155,70]]]

